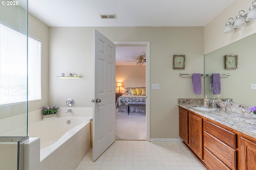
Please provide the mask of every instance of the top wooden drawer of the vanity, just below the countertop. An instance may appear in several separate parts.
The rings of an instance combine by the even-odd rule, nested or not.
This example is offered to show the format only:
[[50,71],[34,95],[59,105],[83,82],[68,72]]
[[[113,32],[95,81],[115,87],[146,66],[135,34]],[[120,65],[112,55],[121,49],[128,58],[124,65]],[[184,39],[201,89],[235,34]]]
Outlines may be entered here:
[[204,131],[209,133],[210,135],[216,137],[220,141],[226,143],[232,148],[236,148],[236,134],[232,133],[222,127],[214,125],[206,120],[204,120]]

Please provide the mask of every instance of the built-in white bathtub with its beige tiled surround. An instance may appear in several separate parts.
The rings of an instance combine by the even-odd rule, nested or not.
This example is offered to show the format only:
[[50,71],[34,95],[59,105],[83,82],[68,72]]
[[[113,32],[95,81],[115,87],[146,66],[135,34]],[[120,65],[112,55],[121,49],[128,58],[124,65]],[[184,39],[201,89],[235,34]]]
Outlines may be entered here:
[[[71,112],[65,113],[66,110],[72,109]],[[80,125],[72,128],[68,128],[66,121],[70,118],[71,126],[75,119],[81,119]],[[47,123],[50,121],[56,121],[53,123],[56,127],[50,129],[49,136],[58,135],[63,133],[59,139],[47,140],[43,135],[40,144],[40,167],[41,170],[70,170],[75,169],[80,160],[84,157],[86,152],[90,149],[90,119],[92,118],[92,108],[78,108],[78,107],[62,107],[58,109],[57,119],[42,120],[42,111],[38,110],[34,113],[28,114],[29,125],[35,125],[36,123]],[[57,123],[57,121],[63,119],[63,122]],[[72,120],[74,119],[74,120]],[[63,124],[62,124],[63,123]],[[48,124],[48,123],[47,123]],[[61,127],[66,125],[66,127]],[[50,125],[49,125],[50,126]],[[45,129],[48,127],[46,125]],[[44,127],[39,128],[38,131],[42,131]],[[66,129],[66,132],[61,132],[62,129]],[[46,133],[47,134],[47,133]],[[39,135],[39,134],[38,134]],[[30,136],[30,128],[28,127],[28,136]],[[34,136],[31,136],[34,137]],[[35,137],[40,137],[35,136]],[[46,141],[46,143],[44,143]],[[55,142],[55,143],[54,143]],[[52,144],[50,146],[47,146]]]

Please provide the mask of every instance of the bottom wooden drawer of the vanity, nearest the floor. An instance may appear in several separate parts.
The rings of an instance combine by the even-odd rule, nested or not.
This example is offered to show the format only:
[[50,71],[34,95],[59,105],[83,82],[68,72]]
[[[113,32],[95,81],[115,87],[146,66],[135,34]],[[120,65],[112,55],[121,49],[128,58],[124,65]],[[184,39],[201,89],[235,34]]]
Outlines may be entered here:
[[209,150],[204,148],[204,163],[210,170],[230,170],[228,166],[223,164],[216,156],[214,156]]

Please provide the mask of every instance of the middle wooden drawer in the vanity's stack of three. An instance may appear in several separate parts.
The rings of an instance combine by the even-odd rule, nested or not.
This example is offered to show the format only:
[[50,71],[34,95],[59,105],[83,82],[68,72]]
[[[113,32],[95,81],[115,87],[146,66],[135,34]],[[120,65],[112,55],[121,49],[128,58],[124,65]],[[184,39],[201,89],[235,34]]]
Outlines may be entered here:
[[[212,135],[204,132],[204,148],[228,166],[231,170],[236,169],[236,150],[219,141]],[[206,158],[207,156],[204,156]]]

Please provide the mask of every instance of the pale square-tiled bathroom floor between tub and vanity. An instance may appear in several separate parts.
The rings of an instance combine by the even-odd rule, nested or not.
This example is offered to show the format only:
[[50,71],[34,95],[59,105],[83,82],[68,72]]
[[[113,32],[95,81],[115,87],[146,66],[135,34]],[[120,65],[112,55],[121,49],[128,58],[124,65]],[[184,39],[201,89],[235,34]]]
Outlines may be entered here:
[[76,170],[206,170],[182,142],[115,141],[95,162],[90,149]]

